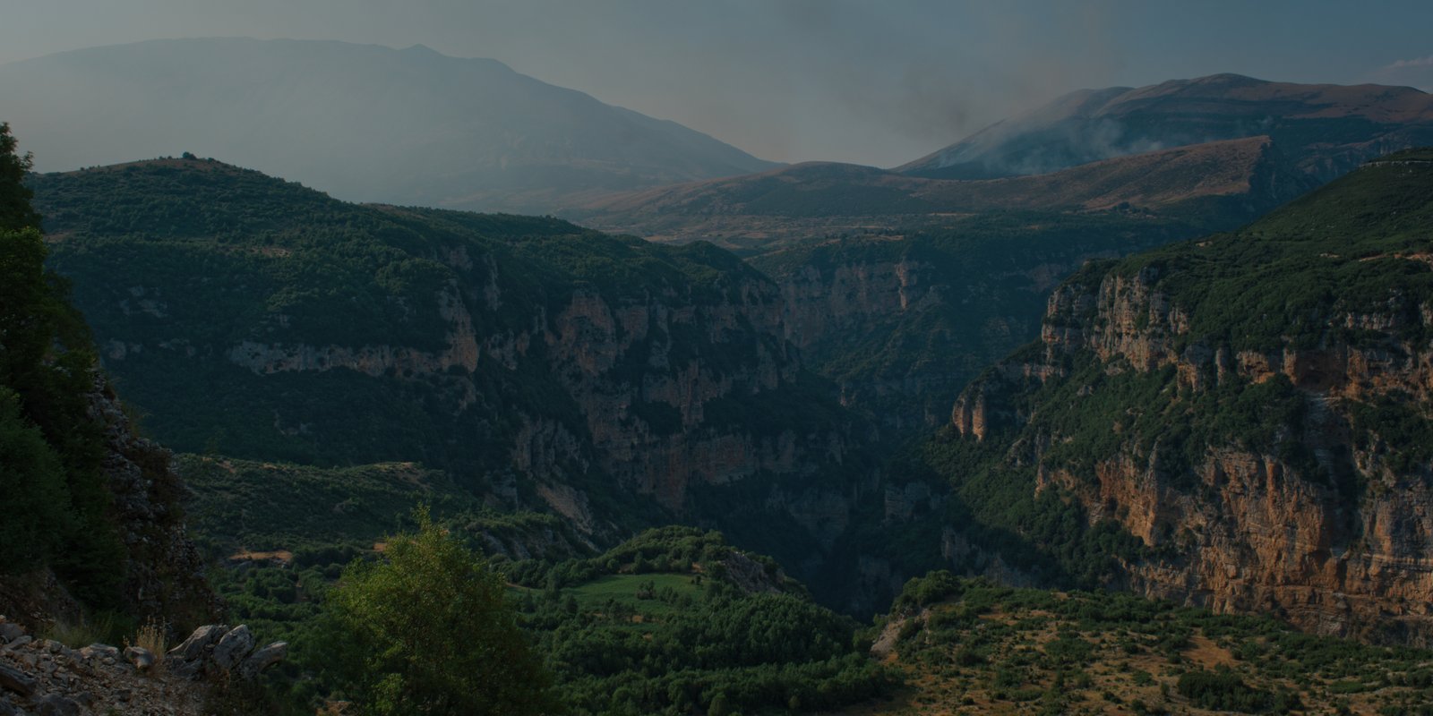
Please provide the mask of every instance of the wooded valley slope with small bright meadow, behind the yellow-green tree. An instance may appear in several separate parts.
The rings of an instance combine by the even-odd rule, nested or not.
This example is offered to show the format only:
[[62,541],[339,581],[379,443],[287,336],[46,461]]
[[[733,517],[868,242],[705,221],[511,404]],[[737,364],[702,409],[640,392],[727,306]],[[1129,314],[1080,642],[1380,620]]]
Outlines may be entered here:
[[325,470],[193,455],[182,464],[193,531],[215,558],[211,580],[231,619],[292,644],[292,659],[265,682],[275,707],[292,713],[332,696],[325,594],[344,564],[380,557],[387,534],[411,527],[420,500],[506,576],[570,713],[721,703],[742,713],[823,712],[896,684],[861,652],[856,621],[718,533],[649,530],[599,553],[553,517],[484,510],[414,465]]

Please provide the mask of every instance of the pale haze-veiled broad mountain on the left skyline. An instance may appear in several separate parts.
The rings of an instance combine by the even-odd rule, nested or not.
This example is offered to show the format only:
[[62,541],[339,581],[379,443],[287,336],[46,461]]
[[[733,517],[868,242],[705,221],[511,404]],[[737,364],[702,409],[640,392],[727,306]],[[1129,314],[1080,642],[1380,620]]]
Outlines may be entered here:
[[193,152],[350,200],[546,213],[775,166],[423,46],[156,40],[3,64],[0,96],[42,170]]

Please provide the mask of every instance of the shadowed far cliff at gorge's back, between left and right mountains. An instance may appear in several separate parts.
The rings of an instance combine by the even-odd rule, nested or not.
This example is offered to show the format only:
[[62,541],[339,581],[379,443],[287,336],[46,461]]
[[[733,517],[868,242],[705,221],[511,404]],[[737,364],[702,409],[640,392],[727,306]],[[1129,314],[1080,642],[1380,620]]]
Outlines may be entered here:
[[909,235],[751,259],[781,288],[781,329],[891,434],[929,431],[980,369],[1037,335],[1045,296],[1091,258],[1201,233],[1148,215],[963,218]]

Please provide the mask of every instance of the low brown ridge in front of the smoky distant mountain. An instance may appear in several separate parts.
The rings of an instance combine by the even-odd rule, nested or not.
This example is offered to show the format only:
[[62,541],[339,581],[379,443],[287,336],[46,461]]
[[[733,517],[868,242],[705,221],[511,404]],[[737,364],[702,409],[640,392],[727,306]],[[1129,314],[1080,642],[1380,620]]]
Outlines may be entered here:
[[802,236],[949,222],[950,215],[990,209],[1158,211],[1232,228],[1315,185],[1287,166],[1268,136],[1254,136],[987,180],[808,162],[609,196],[565,216],[603,231],[732,248],[742,242],[724,238],[761,233],[770,249]]

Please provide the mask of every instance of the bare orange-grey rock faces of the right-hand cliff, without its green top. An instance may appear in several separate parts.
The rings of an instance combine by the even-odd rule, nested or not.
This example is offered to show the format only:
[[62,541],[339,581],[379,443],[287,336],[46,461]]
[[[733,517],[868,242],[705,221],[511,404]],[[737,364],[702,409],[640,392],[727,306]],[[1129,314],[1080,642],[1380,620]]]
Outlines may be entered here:
[[[1230,338],[1194,335],[1189,309],[1162,291],[1161,278],[1149,266],[1062,286],[1037,347],[956,402],[956,431],[984,441],[992,422],[1013,430],[1006,435],[1019,437],[1006,460],[1033,455],[1037,490],[1059,488],[1092,523],[1116,520],[1154,548],[1125,564],[1129,589],[1221,611],[1281,614],[1318,633],[1433,643],[1433,471],[1423,458],[1401,458],[1417,445],[1379,434],[1358,412],[1397,401],[1427,415],[1433,347],[1409,337],[1433,326],[1430,296],[1394,292],[1377,311],[1333,304],[1318,341],[1284,337],[1267,349],[1237,349]],[[1175,465],[1158,435],[1129,434],[1093,455],[1092,470],[1052,464],[1049,447],[1068,435],[1036,428],[1048,425],[1039,414],[1078,408],[1012,395],[1072,379],[1080,358],[1105,375],[1172,368],[1172,391],[1189,402],[1287,378],[1301,417],[1273,428],[1283,444],[1305,447],[1305,457],[1227,435]],[[1085,385],[1078,394],[1095,392]],[[1154,410],[1129,411],[1146,408]]]

